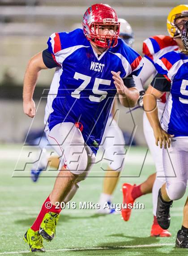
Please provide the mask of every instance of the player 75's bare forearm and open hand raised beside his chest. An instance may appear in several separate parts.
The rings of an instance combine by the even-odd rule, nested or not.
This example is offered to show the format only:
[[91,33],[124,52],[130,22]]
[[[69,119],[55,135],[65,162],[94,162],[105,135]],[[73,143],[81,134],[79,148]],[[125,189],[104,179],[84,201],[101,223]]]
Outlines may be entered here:
[[120,77],[120,71],[114,72],[111,71],[112,78],[114,79],[114,84],[117,89],[117,93],[119,94],[120,103],[127,108],[132,108],[137,104],[137,100],[139,98],[138,90],[134,88],[127,88],[124,85],[124,81]]

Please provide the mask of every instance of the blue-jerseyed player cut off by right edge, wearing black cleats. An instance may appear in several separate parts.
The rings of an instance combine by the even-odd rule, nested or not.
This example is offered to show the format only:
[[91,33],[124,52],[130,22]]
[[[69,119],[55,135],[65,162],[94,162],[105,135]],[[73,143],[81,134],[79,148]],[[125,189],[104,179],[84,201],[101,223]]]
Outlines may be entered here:
[[[188,180],[188,22],[182,29],[184,49],[164,54],[156,62],[155,76],[144,97],[146,115],[160,145],[166,183],[158,193],[157,220],[162,229],[170,226],[173,200],[184,196]],[[162,121],[158,118],[156,99],[169,92]],[[188,199],[176,247],[188,248]]]

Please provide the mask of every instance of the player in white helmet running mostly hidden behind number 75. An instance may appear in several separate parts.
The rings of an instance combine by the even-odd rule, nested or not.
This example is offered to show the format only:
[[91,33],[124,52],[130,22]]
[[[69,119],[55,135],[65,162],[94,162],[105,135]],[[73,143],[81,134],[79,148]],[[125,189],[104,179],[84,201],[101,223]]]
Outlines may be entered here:
[[[132,27],[125,19],[118,18],[118,21],[120,22],[120,38],[122,38],[128,46],[132,47],[134,42]],[[79,27],[79,24],[76,25]],[[74,26],[74,28],[76,28],[76,26]],[[56,72],[54,79],[55,77],[57,79],[56,82],[58,83],[58,72]],[[108,159],[108,166],[107,170],[104,170],[105,177],[103,180],[103,192],[100,194],[98,202],[100,208],[97,209],[99,214],[118,213],[114,207],[111,207],[111,203],[112,193],[114,192],[118,183],[120,171],[122,171],[124,168],[125,143],[123,133],[115,121],[116,105],[117,100],[114,101],[111,115],[108,118],[107,125],[103,134],[103,140],[100,145],[100,148],[103,150],[104,154],[103,159]],[[40,143],[38,143],[38,141]],[[40,173],[45,170],[48,162],[50,163],[51,167],[54,167],[57,170],[60,165],[60,159],[58,156],[47,157],[46,136],[41,139],[39,134],[37,139],[33,139],[33,144],[37,144],[39,148],[43,149],[40,155],[40,159],[33,164],[31,169],[31,178],[34,182],[36,182]],[[101,163],[101,166],[102,165],[103,161]],[[108,205],[108,207],[104,207],[104,205]]]

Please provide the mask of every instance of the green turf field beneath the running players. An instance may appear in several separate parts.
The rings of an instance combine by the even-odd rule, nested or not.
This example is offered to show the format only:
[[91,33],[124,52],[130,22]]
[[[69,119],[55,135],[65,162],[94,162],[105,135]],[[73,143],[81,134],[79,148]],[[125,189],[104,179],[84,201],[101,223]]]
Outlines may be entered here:
[[[0,255],[30,255],[29,248],[22,237],[33,223],[43,201],[49,195],[55,178],[41,177],[34,184],[28,177],[12,177],[17,155],[21,146],[4,145],[1,159],[1,248]],[[152,161],[146,157],[143,170],[139,156],[145,154],[145,148],[132,148],[128,164],[125,166],[117,189],[114,202],[122,201],[121,184],[124,182],[141,183],[154,172]],[[141,171],[141,175],[139,173]],[[130,177],[130,176],[135,177]],[[77,203],[76,209],[65,209],[61,212],[56,229],[56,238],[51,243],[45,243],[46,256],[90,256],[90,255],[188,255],[186,249],[175,248],[177,231],[181,227],[182,208],[186,196],[174,202],[171,209],[171,238],[151,238],[152,199],[151,195],[139,198],[144,203],[144,210],[132,210],[128,222],[124,222],[120,215],[98,216],[94,210],[80,210],[79,202],[98,202],[102,189],[103,172],[100,164],[94,166],[73,198]],[[41,255],[41,253],[34,253]]]

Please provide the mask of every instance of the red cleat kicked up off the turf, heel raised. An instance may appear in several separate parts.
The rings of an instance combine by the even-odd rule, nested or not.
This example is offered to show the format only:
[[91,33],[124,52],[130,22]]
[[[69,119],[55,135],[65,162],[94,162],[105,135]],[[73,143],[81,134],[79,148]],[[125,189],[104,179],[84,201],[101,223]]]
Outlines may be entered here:
[[[128,209],[128,206],[130,208],[131,204],[133,205],[134,203],[134,199],[132,198],[132,189],[136,186],[136,184],[134,185],[131,185],[131,184],[128,184],[128,183],[124,183],[122,185],[122,192],[123,192],[123,204],[124,206],[122,207],[121,209],[121,215],[123,217],[123,219],[125,221],[128,221],[129,218],[130,218],[130,215],[131,215],[131,210],[132,209]],[[127,207],[127,209],[124,209],[125,206]]]

